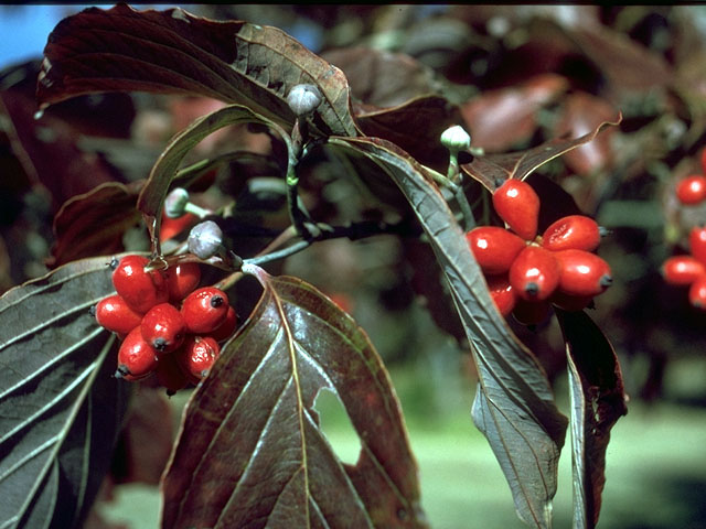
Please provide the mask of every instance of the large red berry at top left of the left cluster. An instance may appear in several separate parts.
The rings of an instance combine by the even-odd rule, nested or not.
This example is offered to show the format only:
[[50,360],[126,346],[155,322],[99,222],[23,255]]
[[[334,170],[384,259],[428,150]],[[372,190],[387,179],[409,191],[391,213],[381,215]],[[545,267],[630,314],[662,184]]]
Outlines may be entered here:
[[113,285],[135,311],[145,314],[169,299],[164,277],[158,271],[146,272],[149,260],[142,256],[125,256],[113,271]]

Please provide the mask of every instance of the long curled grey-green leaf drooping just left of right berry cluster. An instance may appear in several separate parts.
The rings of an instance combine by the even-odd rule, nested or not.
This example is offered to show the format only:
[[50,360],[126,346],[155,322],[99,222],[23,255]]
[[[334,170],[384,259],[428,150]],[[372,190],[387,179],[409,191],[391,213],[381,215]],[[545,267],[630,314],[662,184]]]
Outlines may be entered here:
[[550,527],[567,420],[557,410],[536,358],[495,311],[463,233],[428,170],[382,140],[332,139],[366,153],[406,195],[429,237],[466,327],[480,385],[473,421],[485,434],[522,520]]

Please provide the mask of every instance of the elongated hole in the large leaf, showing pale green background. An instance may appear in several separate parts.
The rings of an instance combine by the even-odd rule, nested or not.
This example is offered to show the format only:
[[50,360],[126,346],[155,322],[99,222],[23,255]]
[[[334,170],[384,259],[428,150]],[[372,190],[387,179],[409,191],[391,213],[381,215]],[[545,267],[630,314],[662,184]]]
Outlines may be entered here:
[[319,413],[321,431],[333,453],[343,463],[355,465],[361,453],[361,440],[339,396],[324,388],[319,391],[313,408]]

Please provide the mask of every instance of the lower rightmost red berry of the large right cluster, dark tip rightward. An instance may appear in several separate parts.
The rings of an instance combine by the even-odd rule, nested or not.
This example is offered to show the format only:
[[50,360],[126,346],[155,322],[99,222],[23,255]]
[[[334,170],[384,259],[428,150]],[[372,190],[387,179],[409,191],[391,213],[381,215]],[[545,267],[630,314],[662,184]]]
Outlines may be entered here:
[[561,270],[559,290],[570,295],[598,295],[612,283],[608,263],[584,250],[554,252]]

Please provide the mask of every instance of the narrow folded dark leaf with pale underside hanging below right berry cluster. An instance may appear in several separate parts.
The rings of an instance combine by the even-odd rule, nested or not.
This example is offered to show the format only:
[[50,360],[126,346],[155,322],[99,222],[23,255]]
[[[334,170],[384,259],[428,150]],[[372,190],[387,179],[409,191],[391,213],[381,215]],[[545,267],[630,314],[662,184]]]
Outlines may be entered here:
[[598,522],[610,430],[628,412],[616,352],[582,311],[556,311],[566,341],[571,395],[574,527]]

